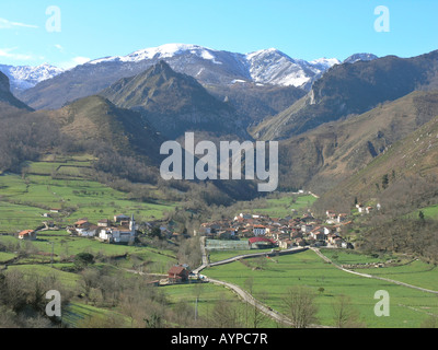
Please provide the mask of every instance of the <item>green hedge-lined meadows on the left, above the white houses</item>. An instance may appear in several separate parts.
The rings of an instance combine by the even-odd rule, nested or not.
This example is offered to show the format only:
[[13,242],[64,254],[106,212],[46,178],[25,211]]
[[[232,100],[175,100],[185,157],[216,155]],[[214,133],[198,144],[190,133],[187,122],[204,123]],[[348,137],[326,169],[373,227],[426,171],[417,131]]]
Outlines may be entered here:
[[[25,176],[3,174],[0,176],[0,233],[16,233],[36,229],[47,218],[42,214],[49,209],[65,209],[53,219],[61,225],[88,218],[91,222],[111,219],[114,214],[135,214],[137,221],[161,219],[164,212],[174,210],[175,203],[155,201],[140,202],[122,191],[90,180],[84,166],[91,160],[83,155],[62,162],[28,163]],[[54,177],[62,175],[61,178]],[[67,176],[67,177],[66,177]],[[151,194],[155,188],[145,185]]]

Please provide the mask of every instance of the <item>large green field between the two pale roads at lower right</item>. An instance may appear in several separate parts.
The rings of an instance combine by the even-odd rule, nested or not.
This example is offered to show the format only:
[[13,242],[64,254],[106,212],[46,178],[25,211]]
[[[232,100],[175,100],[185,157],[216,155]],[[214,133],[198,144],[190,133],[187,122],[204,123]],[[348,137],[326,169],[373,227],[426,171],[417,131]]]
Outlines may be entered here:
[[[262,270],[253,269],[251,265],[232,262],[208,268],[203,273],[242,288],[245,288],[245,281],[252,278],[255,293],[267,293],[266,303],[281,313],[286,313],[283,298],[288,288],[306,285],[318,295],[315,302],[319,306],[319,323],[327,326],[334,325],[333,303],[341,294],[350,296],[351,304],[360,313],[367,327],[415,328],[429,317],[428,313],[438,315],[436,294],[344,272],[324,262],[312,250],[266,259]],[[436,279],[436,273],[430,273],[429,278]],[[320,288],[324,289],[323,292],[319,292]],[[373,313],[378,302],[373,296],[379,290],[385,290],[390,294],[389,317],[377,317]]]

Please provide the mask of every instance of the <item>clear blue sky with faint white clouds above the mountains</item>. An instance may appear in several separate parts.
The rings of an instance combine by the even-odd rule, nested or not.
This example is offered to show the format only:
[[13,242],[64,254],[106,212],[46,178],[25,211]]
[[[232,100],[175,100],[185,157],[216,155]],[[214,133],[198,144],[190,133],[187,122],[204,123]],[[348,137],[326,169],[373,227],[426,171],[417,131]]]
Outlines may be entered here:
[[[60,10],[60,32],[46,22]],[[378,5],[390,32],[376,32]],[[436,0],[1,0],[0,63],[71,67],[170,43],[313,60],[355,52],[412,57],[438,49]],[[55,23],[55,22],[50,22]]]

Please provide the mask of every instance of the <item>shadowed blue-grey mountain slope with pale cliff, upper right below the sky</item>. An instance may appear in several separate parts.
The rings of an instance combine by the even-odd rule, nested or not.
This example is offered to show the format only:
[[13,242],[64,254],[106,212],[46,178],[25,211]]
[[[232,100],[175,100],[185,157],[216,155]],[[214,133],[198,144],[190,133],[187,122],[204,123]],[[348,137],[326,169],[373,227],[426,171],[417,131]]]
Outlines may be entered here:
[[437,86],[438,50],[413,58],[388,56],[337,65],[315,81],[304,97],[263,120],[251,132],[263,140],[287,139],[413,91]]

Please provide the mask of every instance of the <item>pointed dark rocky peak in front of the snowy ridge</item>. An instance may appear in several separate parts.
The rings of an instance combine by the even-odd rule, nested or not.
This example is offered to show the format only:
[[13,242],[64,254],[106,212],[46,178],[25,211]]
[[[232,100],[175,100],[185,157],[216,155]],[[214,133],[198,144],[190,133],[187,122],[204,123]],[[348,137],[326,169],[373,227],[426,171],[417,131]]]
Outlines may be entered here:
[[186,131],[247,136],[235,110],[210,95],[193,77],[177,73],[164,61],[125,78],[100,93],[122,108],[139,112],[170,139]]

